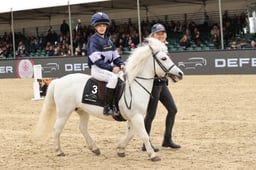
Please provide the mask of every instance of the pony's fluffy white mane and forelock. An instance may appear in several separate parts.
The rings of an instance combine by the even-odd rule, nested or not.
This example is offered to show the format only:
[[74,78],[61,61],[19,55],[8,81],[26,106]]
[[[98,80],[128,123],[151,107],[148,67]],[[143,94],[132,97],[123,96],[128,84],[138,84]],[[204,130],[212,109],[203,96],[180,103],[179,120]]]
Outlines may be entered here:
[[[155,38],[147,38],[146,40],[154,51],[162,51],[163,47],[166,47]],[[136,76],[145,69],[147,59],[150,55],[152,55],[152,50],[148,45],[140,46],[132,51],[125,67],[129,81],[134,80]]]

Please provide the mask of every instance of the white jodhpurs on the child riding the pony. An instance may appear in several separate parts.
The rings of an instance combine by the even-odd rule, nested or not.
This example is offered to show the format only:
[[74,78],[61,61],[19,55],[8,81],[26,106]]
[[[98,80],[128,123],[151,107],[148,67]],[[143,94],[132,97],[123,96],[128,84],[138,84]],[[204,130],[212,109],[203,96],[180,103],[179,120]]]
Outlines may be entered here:
[[115,74],[111,71],[99,68],[96,65],[92,65],[91,75],[92,75],[92,77],[94,77],[95,79],[97,79],[99,81],[107,82],[107,85],[106,85],[107,88],[110,88],[110,89],[116,88],[116,84],[118,81],[117,74]]

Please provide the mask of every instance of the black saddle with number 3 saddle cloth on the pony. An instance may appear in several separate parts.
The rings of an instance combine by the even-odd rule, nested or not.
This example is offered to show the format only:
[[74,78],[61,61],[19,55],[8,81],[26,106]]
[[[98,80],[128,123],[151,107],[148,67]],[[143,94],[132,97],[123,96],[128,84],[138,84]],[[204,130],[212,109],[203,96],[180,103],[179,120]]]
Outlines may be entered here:
[[[82,103],[104,107],[106,84],[106,82],[96,80],[95,78],[88,79],[84,86]],[[118,109],[118,101],[122,96],[123,90],[124,83],[120,78],[118,78],[114,94],[114,103]],[[121,115],[113,116],[113,118],[117,121],[126,121]]]

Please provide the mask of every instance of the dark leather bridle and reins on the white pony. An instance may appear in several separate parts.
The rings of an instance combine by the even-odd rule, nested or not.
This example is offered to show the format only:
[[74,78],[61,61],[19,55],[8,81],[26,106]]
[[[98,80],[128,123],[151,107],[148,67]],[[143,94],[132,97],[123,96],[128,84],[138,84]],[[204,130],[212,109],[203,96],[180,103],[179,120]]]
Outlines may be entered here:
[[[156,62],[157,62],[157,64],[160,66],[160,68],[161,68],[165,73],[168,73],[168,72],[175,66],[175,64],[172,64],[169,68],[166,68],[166,67],[160,62],[160,60],[156,57],[157,54],[159,53],[159,51],[157,51],[156,53],[154,53],[153,48],[152,48],[150,45],[148,45],[148,47],[151,49],[152,56],[153,56],[153,59],[154,59],[154,60],[153,60],[153,65],[154,65],[154,73],[155,73],[155,75],[156,75]],[[155,61],[156,61],[156,62],[155,62]],[[125,74],[125,75],[126,75],[126,74]],[[126,80],[126,76],[124,76],[124,79]],[[152,79],[154,79],[154,77],[153,77],[153,78],[136,77],[135,80],[134,80],[140,87],[142,87],[142,88],[150,95],[151,98],[154,98],[154,97],[152,96],[152,93],[149,92],[137,79],[152,80]],[[130,100],[129,105],[128,105],[127,100],[126,100],[125,93],[124,93],[124,102],[125,102],[125,104],[126,104],[126,107],[130,110],[130,109],[131,109],[131,105],[132,105],[132,91],[131,91],[131,86],[130,86],[130,85],[129,85],[129,92],[130,92],[130,96],[131,96],[131,100]]]

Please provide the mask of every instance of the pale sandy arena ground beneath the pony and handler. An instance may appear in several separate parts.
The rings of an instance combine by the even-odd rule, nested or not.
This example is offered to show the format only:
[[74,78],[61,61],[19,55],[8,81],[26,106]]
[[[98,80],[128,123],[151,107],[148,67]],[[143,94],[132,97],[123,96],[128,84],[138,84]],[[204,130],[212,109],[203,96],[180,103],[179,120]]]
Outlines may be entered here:
[[179,150],[162,148],[166,111],[162,105],[152,127],[160,162],[141,151],[136,135],[126,157],[116,154],[126,123],[91,118],[89,130],[101,149],[88,150],[72,114],[61,136],[65,157],[56,157],[53,139],[33,141],[32,129],[43,100],[33,101],[33,79],[0,79],[0,169],[256,169],[255,75],[185,76],[169,87],[178,113],[174,140]]

